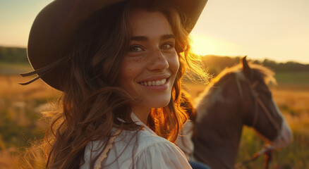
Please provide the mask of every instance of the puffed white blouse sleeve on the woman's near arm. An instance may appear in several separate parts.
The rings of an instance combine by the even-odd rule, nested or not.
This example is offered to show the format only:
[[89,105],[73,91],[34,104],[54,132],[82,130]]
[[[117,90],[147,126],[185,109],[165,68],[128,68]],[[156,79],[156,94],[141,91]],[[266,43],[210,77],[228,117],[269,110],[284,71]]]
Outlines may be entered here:
[[191,168],[181,149],[170,142],[158,142],[147,146],[135,157],[134,168]]

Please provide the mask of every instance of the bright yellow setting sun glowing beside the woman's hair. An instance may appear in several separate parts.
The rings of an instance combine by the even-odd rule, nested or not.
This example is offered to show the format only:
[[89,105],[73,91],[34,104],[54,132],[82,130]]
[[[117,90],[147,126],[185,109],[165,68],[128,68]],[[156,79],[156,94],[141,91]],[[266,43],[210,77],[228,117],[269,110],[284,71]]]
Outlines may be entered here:
[[205,56],[215,53],[214,43],[205,35],[193,34],[191,35],[191,42],[192,51],[195,54]]

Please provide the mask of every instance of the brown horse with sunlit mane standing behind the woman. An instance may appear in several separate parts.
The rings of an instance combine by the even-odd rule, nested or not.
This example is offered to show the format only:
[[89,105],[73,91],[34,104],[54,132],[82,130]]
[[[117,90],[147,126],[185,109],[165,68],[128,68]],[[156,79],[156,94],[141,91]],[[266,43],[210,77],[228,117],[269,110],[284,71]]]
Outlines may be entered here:
[[234,168],[243,125],[253,127],[276,149],[292,141],[292,132],[277,108],[267,84],[272,70],[241,63],[226,68],[195,100],[193,161],[210,168]]

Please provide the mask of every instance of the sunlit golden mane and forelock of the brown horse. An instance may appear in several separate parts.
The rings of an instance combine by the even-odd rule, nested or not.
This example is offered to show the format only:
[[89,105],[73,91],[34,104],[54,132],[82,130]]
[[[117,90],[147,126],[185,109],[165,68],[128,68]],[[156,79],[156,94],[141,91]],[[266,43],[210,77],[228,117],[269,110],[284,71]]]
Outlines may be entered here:
[[[264,81],[265,84],[277,84],[276,79],[274,78],[274,71],[270,70],[269,68],[266,68],[263,65],[257,65],[255,63],[248,63],[251,73],[253,74],[254,79]],[[210,89],[216,88],[221,84],[222,82],[225,82],[227,78],[231,77],[234,73],[241,73],[242,77],[246,79],[245,75],[243,75],[243,65],[242,63],[238,63],[237,65],[232,66],[231,68],[224,68],[217,77],[214,77],[212,80],[210,80],[210,83],[207,85],[204,92],[202,92],[197,99],[195,99],[195,106],[200,101],[202,101],[205,94],[209,92]]]

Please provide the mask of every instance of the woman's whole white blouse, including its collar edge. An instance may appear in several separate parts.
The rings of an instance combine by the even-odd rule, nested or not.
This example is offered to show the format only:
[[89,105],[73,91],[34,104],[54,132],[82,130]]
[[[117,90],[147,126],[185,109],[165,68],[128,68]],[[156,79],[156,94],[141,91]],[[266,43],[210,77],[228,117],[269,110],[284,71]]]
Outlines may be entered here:
[[[159,137],[147,125],[142,123],[134,113],[132,120],[137,125],[143,125],[144,130],[123,130],[115,139],[107,154],[107,158],[95,164],[102,168],[191,168],[183,151],[167,139]],[[115,129],[112,132],[116,132]],[[90,142],[85,148],[85,163],[80,169],[90,168],[90,159],[95,158],[102,151],[102,142]],[[134,161],[134,162],[133,162]]]

